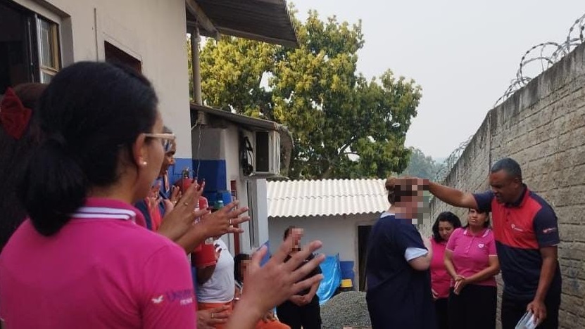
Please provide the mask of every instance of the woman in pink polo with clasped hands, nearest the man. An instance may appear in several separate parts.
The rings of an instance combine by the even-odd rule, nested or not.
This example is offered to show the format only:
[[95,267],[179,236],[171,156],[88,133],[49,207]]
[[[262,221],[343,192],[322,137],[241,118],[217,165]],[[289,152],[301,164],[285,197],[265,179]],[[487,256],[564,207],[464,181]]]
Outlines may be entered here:
[[448,302],[450,329],[496,328],[496,274],[500,264],[489,213],[469,209],[467,225],[451,234],[445,266],[453,280]]

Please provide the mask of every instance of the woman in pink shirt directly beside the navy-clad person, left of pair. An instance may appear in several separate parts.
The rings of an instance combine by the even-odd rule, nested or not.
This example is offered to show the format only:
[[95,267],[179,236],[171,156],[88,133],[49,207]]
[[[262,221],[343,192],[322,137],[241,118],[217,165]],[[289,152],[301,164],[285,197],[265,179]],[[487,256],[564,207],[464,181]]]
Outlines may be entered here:
[[445,267],[445,247],[455,228],[461,227],[461,221],[453,212],[441,212],[433,224],[431,246],[431,288],[434,299],[436,323],[438,329],[448,329],[447,300],[451,276]]

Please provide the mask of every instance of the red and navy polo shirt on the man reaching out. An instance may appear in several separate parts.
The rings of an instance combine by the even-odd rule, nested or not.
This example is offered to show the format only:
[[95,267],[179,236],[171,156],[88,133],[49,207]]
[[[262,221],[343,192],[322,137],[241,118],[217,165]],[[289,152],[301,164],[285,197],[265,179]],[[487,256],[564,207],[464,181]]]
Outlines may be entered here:
[[[504,294],[515,299],[534,299],[539,286],[541,247],[560,243],[557,216],[539,195],[524,187],[517,202],[497,202],[492,191],[474,194],[480,211],[491,211],[493,237],[504,281]],[[560,267],[548,293],[560,294]]]

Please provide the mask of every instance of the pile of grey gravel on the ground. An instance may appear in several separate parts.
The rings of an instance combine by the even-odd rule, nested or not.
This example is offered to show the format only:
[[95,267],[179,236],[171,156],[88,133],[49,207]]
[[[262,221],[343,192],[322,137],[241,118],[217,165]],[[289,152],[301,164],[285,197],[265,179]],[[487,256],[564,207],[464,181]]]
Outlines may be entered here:
[[365,292],[341,292],[321,307],[323,329],[371,328]]

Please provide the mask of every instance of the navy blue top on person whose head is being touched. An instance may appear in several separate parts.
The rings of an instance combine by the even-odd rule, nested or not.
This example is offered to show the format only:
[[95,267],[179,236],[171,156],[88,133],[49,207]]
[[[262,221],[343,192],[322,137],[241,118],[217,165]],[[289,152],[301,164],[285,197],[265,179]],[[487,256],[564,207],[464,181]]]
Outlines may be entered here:
[[366,300],[374,329],[436,328],[430,272],[408,264],[409,247],[426,249],[412,222],[382,214],[367,245]]

